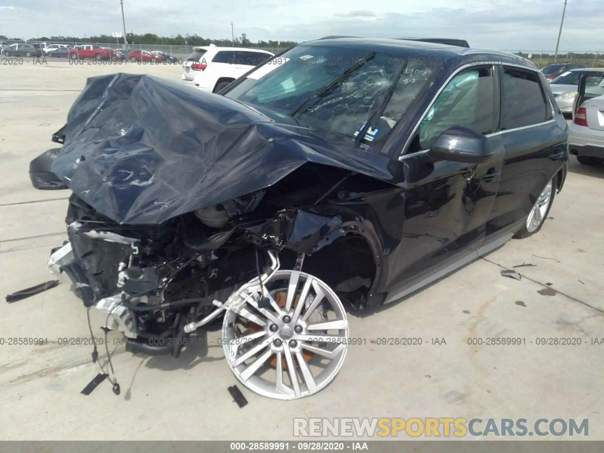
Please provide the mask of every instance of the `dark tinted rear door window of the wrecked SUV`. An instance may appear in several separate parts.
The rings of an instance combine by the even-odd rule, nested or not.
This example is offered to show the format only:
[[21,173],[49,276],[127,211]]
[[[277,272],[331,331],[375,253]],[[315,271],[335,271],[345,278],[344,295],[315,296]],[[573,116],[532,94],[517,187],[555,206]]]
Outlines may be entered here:
[[532,71],[504,68],[501,96],[501,130],[531,126],[547,120],[547,102]]

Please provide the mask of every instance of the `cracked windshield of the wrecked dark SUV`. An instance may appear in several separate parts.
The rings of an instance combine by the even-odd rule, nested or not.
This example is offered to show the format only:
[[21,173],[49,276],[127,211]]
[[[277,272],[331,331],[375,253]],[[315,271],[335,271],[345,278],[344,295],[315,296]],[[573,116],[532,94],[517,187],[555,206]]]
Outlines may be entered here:
[[367,50],[302,45],[260,66],[225,96],[349,137],[355,137],[379,111],[381,117],[365,135],[366,140],[373,140],[386,135],[429,86],[442,68],[434,63]]

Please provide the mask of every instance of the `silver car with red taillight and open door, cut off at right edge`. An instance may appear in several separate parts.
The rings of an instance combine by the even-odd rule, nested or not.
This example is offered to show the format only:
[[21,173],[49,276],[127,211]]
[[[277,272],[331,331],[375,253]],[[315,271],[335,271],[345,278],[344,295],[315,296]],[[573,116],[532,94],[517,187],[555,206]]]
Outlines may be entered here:
[[604,88],[600,81],[602,71],[595,69],[579,76],[574,118],[568,134],[568,150],[583,165],[604,163]]

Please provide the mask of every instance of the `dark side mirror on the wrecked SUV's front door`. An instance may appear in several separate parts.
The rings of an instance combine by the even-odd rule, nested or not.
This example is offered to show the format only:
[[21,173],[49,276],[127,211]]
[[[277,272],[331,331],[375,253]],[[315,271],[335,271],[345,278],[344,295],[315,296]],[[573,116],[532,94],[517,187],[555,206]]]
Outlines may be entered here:
[[489,140],[468,127],[455,126],[445,130],[426,153],[434,161],[480,164],[493,155]]

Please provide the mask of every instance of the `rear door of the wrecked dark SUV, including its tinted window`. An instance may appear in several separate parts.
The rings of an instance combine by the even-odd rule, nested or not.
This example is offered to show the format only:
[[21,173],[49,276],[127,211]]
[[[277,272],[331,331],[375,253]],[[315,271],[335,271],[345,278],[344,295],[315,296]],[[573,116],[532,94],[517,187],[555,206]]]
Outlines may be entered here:
[[505,150],[499,193],[487,234],[521,225],[539,193],[568,159],[567,124],[554,112],[547,81],[536,68],[500,65],[500,137]]

